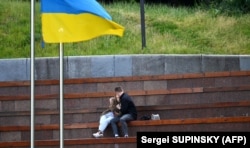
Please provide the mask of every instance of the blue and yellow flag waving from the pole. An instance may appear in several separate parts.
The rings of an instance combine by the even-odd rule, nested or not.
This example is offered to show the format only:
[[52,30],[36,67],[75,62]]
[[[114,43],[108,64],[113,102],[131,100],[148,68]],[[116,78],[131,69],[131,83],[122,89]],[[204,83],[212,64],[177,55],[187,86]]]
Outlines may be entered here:
[[96,0],[41,0],[42,35],[47,43],[90,40],[102,35],[122,37],[124,27]]

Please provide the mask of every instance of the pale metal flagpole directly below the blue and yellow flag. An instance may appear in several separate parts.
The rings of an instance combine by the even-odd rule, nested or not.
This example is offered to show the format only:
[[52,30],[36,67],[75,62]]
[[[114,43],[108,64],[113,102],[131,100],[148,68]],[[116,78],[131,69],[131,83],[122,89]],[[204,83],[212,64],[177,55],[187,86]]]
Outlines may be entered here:
[[63,128],[63,43],[60,42],[60,148],[64,147]]

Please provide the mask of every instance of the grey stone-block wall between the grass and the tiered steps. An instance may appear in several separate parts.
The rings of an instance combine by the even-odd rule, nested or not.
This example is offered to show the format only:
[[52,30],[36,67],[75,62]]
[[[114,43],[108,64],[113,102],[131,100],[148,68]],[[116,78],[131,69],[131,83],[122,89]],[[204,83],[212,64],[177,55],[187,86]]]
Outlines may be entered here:
[[[59,79],[59,57],[36,58],[35,79]],[[30,80],[30,59],[1,59],[0,81]],[[250,70],[249,55],[65,56],[64,77],[116,77]]]

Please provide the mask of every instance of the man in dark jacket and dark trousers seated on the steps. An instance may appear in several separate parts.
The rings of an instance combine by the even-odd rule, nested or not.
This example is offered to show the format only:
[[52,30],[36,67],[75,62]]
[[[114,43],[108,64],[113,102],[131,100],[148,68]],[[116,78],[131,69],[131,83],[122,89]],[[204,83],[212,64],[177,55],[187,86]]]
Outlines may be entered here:
[[113,134],[116,138],[119,137],[117,123],[120,122],[124,137],[128,137],[127,122],[137,119],[137,110],[132,98],[124,92],[122,87],[116,87],[115,93],[116,98],[120,102],[117,108],[120,108],[121,114],[110,121]]

